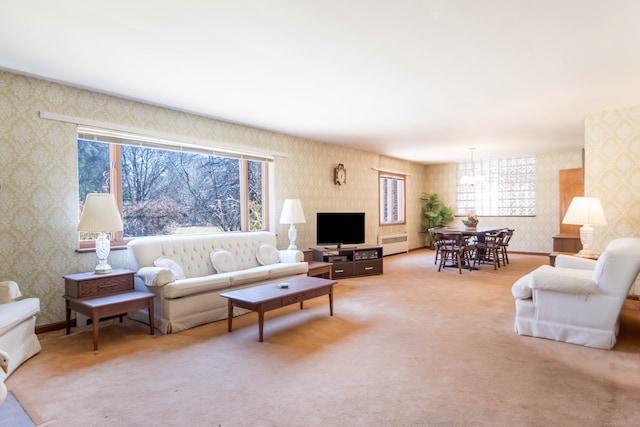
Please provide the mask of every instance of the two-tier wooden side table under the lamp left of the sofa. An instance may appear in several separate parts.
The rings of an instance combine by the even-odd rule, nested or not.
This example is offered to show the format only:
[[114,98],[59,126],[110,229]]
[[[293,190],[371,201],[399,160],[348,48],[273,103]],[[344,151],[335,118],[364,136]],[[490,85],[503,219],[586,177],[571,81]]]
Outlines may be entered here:
[[134,275],[133,271],[114,270],[108,274],[78,273],[64,276],[67,335],[71,331],[71,310],[89,316],[93,323],[93,349],[97,350],[100,319],[145,308],[149,311],[149,332],[153,335],[153,294],[136,291],[133,287]]

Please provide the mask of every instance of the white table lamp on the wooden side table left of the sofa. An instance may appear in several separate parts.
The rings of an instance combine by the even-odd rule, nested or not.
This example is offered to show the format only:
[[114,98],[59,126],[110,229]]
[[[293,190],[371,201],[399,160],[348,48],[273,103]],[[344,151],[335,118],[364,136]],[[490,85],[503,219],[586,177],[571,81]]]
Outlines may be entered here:
[[78,224],[78,231],[99,233],[96,239],[98,265],[95,273],[111,273],[111,266],[107,263],[107,258],[111,251],[111,242],[107,233],[122,231],[122,219],[113,194],[87,194],[82,215],[80,216],[80,223]]

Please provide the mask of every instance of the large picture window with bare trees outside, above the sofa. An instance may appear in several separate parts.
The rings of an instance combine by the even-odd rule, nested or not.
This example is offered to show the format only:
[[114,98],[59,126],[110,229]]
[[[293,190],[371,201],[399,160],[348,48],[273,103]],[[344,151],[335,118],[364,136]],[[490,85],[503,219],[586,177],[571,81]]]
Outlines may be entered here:
[[[113,193],[124,222],[116,241],[265,229],[265,161],[134,144],[86,132],[78,137],[80,209],[88,193]],[[92,237],[81,234],[80,239]]]

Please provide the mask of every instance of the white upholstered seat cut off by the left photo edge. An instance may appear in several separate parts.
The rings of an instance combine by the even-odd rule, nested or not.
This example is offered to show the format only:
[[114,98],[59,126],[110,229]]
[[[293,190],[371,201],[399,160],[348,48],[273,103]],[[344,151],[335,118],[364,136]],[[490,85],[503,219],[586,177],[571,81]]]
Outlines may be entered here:
[[0,369],[0,381],[40,351],[40,341],[35,333],[40,300],[19,299],[21,296],[16,282],[0,282],[0,350],[9,355],[7,373]]

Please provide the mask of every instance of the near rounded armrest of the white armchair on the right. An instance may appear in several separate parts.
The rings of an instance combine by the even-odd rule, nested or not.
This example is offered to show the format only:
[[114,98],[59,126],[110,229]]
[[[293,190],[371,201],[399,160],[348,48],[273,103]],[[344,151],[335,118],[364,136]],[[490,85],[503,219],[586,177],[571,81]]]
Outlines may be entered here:
[[565,294],[587,295],[594,293],[596,283],[580,274],[575,274],[571,269],[542,265],[531,273],[529,281],[531,289],[545,289],[562,292]]

